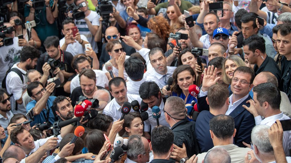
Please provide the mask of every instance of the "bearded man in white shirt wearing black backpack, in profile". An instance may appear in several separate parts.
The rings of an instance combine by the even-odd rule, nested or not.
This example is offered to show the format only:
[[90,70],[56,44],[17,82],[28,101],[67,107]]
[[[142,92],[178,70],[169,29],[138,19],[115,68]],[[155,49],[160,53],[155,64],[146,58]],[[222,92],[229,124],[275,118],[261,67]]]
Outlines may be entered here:
[[[20,62],[15,63],[11,68],[16,68],[22,73],[22,79],[28,70],[34,69],[37,64],[40,52],[31,46],[24,46],[20,53]],[[11,96],[11,108],[14,114],[26,114],[26,109],[23,106],[22,95],[26,92],[26,83],[14,71],[11,71],[6,76],[6,89]]]

